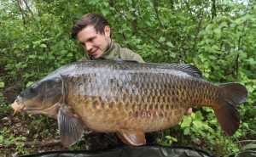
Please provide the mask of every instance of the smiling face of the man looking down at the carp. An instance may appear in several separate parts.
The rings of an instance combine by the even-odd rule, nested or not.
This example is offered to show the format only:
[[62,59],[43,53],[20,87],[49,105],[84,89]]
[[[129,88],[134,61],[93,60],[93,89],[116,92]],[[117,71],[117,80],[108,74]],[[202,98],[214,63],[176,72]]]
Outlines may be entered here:
[[100,32],[96,32],[93,25],[88,25],[78,33],[79,42],[84,50],[94,58],[101,57],[102,53],[108,50],[111,43],[110,27],[106,25],[104,31],[105,34],[100,34]]

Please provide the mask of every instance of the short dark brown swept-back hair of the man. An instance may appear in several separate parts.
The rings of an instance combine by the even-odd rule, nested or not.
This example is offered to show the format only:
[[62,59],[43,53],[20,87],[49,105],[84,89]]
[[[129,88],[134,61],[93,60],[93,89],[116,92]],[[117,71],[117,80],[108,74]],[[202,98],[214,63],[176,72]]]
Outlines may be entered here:
[[76,38],[79,31],[83,30],[87,25],[93,25],[96,32],[100,32],[100,34],[104,34],[104,28],[108,24],[108,20],[103,18],[99,14],[84,14],[74,25],[72,29],[71,36],[72,38]]

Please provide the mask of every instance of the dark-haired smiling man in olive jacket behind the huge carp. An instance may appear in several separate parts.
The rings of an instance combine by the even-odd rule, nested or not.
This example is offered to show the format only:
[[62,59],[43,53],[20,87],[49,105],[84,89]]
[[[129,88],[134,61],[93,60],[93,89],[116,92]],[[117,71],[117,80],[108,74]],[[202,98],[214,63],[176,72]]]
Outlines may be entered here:
[[72,37],[78,38],[86,52],[81,60],[133,59],[144,63],[140,55],[112,41],[108,20],[98,14],[84,14],[73,25]]

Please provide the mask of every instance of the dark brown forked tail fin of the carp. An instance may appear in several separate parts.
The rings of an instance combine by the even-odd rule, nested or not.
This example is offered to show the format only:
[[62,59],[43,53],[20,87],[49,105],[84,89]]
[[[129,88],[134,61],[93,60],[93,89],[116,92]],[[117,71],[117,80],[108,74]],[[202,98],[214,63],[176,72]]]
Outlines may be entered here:
[[239,128],[237,106],[247,100],[247,89],[239,83],[224,83],[218,86],[224,89],[224,102],[219,109],[214,109],[214,112],[222,130],[231,136]]

